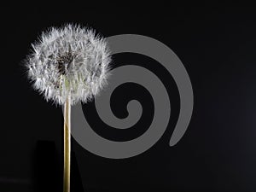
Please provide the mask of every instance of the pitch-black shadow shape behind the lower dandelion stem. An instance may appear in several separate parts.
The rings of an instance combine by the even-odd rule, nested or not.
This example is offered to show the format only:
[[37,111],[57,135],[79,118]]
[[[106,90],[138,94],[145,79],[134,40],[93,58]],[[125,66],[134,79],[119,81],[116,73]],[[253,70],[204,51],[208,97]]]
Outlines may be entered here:
[[[58,156],[53,141],[38,141],[35,150],[34,187],[35,192],[63,190],[63,158]],[[70,191],[84,192],[76,155],[71,153]]]

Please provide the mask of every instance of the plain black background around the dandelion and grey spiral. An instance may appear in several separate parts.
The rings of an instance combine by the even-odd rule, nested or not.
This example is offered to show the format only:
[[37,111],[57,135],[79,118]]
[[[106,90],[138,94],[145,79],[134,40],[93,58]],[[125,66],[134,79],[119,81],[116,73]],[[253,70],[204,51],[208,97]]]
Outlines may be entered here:
[[[189,128],[170,148],[179,106],[172,77],[146,56],[114,55],[113,67],[129,63],[152,66],[148,69],[163,80],[170,93],[172,118],[153,148],[125,160],[90,154],[73,141],[73,162],[79,162],[73,168],[77,170],[73,183],[79,186],[81,180],[84,191],[256,190],[255,8],[66,5],[3,6],[0,191],[61,191],[61,108],[32,90],[21,61],[43,30],[67,22],[91,26],[104,37],[133,33],[166,44],[183,61],[195,96]],[[84,105],[85,116],[102,137],[129,140],[147,130],[147,117],[154,113],[150,94],[139,84],[123,84],[114,91],[113,112],[124,118],[124,103],[133,98],[144,110],[139,125],[131,131],[111,127],[106,131],[106,125],[97,120],[93,102]]]

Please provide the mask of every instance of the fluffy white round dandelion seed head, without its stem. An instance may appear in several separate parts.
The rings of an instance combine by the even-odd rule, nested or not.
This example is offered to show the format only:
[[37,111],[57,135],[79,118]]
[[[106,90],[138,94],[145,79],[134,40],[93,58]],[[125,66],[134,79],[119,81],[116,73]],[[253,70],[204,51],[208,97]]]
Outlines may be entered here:
[[28,78],[35,90],[56,104],[88,102],[107,84],[110,52],[104,38],[88,28],[51,27],[32,44]]

